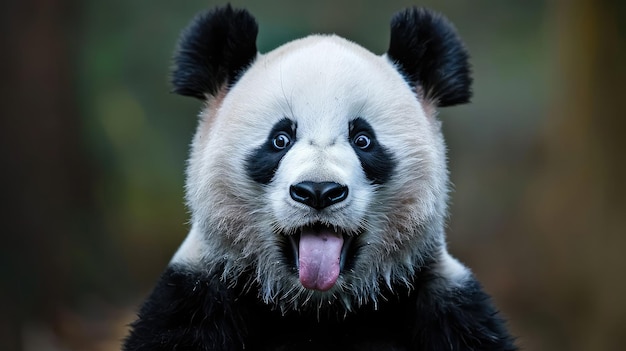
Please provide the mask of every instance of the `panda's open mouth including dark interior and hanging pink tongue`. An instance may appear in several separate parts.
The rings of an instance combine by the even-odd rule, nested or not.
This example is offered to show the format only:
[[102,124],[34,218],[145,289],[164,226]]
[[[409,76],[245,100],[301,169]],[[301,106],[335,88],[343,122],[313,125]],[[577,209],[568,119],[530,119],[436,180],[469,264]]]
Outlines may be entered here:
[[354,235],[322,223],[289,235],[300,283],[311,290],[331,289],[353,255]]

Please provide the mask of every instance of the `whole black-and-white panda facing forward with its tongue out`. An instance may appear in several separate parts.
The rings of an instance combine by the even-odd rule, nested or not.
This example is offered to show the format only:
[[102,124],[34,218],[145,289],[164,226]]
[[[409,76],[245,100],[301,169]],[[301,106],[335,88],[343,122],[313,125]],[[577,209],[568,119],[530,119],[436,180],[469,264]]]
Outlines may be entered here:
[[437,108],[471,95],[442,15],[409,8],[387,52],[311,35],[260,54],[230,5],[178,43],[173,92],[204,107],[190,231],[123,350],[516,350],[446,248]]

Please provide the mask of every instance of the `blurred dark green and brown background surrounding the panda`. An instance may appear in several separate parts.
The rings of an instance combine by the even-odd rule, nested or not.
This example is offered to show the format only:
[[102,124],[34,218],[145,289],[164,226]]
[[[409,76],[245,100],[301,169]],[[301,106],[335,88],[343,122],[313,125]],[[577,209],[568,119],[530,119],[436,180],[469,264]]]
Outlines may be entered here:
[[[525,350],[624,350],[626,2],[233,1],[259,49],[311,32],[376,53],[389,19],[444,12],[473,103],[443,109],[448,240]],[[169,93],[192,16],[222,2],[0,4],[0,349],[118,350],[187,231],[200,103]]]

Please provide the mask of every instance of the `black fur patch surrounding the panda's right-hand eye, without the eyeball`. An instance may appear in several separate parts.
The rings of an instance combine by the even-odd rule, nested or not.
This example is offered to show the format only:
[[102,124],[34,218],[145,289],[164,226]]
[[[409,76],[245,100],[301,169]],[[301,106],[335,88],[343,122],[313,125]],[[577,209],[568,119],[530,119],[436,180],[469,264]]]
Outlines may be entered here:
[[[354,138],[365,133],[371,139],[370,146],[363,150],[354,144]],[[376,133],[372,126],[362,118],[356,118],[350,123],[350,145],[356,152],[365,175],[373,184],[384,184],[389,180],[396,166],[391,152],[376,140]]]

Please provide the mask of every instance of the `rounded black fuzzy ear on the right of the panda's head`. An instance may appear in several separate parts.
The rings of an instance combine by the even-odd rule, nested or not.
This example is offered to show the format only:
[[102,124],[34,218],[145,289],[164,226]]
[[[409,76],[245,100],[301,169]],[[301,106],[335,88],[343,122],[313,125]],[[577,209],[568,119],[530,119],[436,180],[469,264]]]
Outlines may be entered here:
[[398,12],[391,20],[387,56],[437,106],[469,101],[469,55],[452,23],[423,8]]

